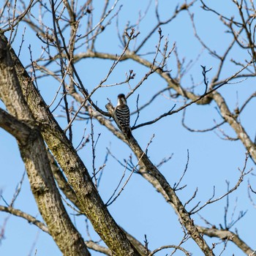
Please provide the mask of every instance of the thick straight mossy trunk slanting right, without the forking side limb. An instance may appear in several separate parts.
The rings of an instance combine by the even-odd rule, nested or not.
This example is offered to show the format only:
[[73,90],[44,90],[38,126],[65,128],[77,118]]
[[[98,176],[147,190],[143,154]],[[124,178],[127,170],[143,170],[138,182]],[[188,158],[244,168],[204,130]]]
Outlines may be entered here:
[[[5,40],[2,35],[1,41],[4,42]],[[83,213],[90,219],[94,230],[111,249],[113,255],[140,255],[123,230],[118,227],[113,217],[111,217],[108,208],[105,207],[91,181],[86,166],[48,110],[15,52],[10,49],[10,53],[15,63],[12,70],[13,72],[16,70],[22,89],[19,94],[23,94],[37,127],[42,132],[43,139],[48,144],[61,169],[64,170],[69,184],[78,197]]]

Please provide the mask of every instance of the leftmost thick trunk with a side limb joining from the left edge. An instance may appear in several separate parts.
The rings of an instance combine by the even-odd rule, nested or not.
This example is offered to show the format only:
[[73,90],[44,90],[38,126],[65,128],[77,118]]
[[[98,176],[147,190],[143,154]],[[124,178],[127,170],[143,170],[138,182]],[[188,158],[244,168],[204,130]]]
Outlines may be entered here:
[[45,149],[45,143],[36,122],[26,105],[10,46],[0,40],[0,98],[9,113],[0,111],[0,126],[18,140],[18,146],[29,176],[31,191],[42,218],[64,255],[91,255],[80,233],[72,224],[56,188]]

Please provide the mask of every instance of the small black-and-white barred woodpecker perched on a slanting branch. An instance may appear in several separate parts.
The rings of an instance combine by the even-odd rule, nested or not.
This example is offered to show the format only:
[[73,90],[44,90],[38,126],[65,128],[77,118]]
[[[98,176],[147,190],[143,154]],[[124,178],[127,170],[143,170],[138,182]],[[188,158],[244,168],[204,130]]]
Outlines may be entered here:
[[127,135],[127,138],[131,138],[132,132],[129,127],[129,107],[124,94],[118,95],[117,105],[113,116],[118,128],[121,129],[121,132],[123,132],[124,135]]

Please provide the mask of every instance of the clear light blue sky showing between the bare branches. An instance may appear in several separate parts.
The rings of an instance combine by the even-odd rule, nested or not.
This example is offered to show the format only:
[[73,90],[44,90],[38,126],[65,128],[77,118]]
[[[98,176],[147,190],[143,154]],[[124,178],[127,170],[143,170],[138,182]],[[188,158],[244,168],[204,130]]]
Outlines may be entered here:
[[[179,2],[181,1],[171,1],[171,3],[164,0],[159,1],[159,13],[161,13],[162,17],[167,18],[168,15],[173,13],[173,10]],[[211,4],[211,7],[217,8],[219,12],[225,15],[232,14],[237,17],[237,13],[234,11],[234,4],[232,4],[231,1],[207,2]],[[128,1],[119,1],[118,6],[121,4],[123,7],[119,15],[119,26],[122,29],[127,23],[127,20],[130,20],[130,23],[136,23],[136,20],[138,20],[138,10],[142,10],[142,12],[146,10],[147,1],[140,2],[133,0],[129,1],[129,3]],[[94,4],[95,19],[97,19],[99,15],[98,10],[101,10],[101,8],[102,7],[97,3]],[[195,3],[194,7],[192,7],[191,12],[195,12],[197,31],[203,40],[219,53],[222,53],[232,37],[230,34],[225,33],[226,28],[222,26],[219,18],[211,12],[203,11],[198,1]],[[50,20],[48,22],[50,23]],[[139,26],[140,35],[138,42],[136,42],[137,44],[156,23],[154,1],[152,1],[148,15]],[[26,66],[30,62],[29,45],[31,45],[34,59],[39,57],[42,49],[34,32],[31,31],[26,24],[22,23],[18,28],[18,36],[13,44],[13,48],[16,52],[20,45],[19,35],[22,33],[24,26],[26,26],[26,34],[20,59]],[[214,57],[208,54],[207,50],[203,50],[202,46],[197,42],[195,37],[193,37],[192,26],[187,12],[182,12],[178,15],[178,18],[173,20],[173,23],[170,23],[170,25],[162,26],[162,34],[168,38],[170,47],[176,42],[178,55],[181,59],[186,58],[185,61],[187,63],[190,60],[197,59],[197,56],[200,54],[199,59],[181,80],[182,86],[191,86],[192,78],[195,83],[202,81],[200,65],[204,65],[208,68],[212,67],[211,72],[208,73],[208,78],[211,80],[211,78],[214,77],[215,72],[217,72],[218,62]],[[156,33],[151,37],[140,53],[154,51],[155,45],[157,45],[157,39],[158,35]],[[99,36],[96,49],[99,52],[121,53],[122,48],[116,37],[116,24],[114,20],[111,25],[105,29],[105,32]],[[149,55],[146,58],[151,60],[153,56],[154,55]],[[231,58],[244,61],[244,59],[248,59],[248,55],[241,49],[236,48],[230,53],[227,59]],[[88,88],[89,91],[97,86],[100,80],[105,77],[111,64],[112,61],[102,61],[99,59],[85,59],[77,64],[80,78],[86,84],[86,88]],[[176,73],[176,61],[173,54],[168,62],[168,68],[172,69],[171,74]],[[124,61],[118,64],[113,74],[110,76],[108,83],[116,83],[124,80],[125,72],[129,72],[129,69],[133,69],[136,73],[135,79],[130,82],[132,86],[135,86],[138,81],[143,78],[143,75],[148,72],[148,69],[141,67],[135,62]],[[223,69],[222,78],[233,75],[237,70],[238,67],[227,63]],[[56,89],[59,87],[59,83],[52,79],[41,79],[38,80],[38,84],[40,92],[45,98],[45,101],[49,104],[54,97]],[[143,105],[154,92],[159,91],[159,89],[165,86],[164,80],[161,80],[158,75],[152,75],[132,97],[129,97],[128,102],[131,111],[136,110],[138,94],[140,94],[140,104]],[[97,101],[100,108],[104,109],[105,104],[108,103],[107,98],[111,99],[111,101],[116,104],[116,95],[121,92],[126,94],[128,91],[129,87],[127,85],[103,88],[99,89],[92,99],[94,99],[95,102]],[[203,84],[196,89],[198,94],[203,93],[203,91]],[[227,99],[228,105],[232,110],[236,106],[237,100],[241,104],[253,91],[255,91],[255,79],[248,79],[241,83],[227,85],[219,90]],[[166,97],[158,97],[151,108],[140,113],[138,124],[151,120],[159,116],[159,114],[170,110],[170,108],[173,108],[174,104],[177,104],[177,106],[182,104],[169,100],[167,99],[167,95],[165,96]],[[4,108],[1,102],[0,107]],[[244,111],[244,114],[241,116],[242,124],[244,124],[246,132],[248,132],[252,138],[255,136],[255,124],[252,122],[251,118],[251,113],[254,110],[255,100],[248,105],[246,111]],[[56,110],[56,118],[61,124],[61,127],[65,128],[67,121],[65,121],[64,118],[57,117],[60,113],[60,110]],[[222,140],[217,136],[216,132],[188,132],[181,126],[181,118],[182,113],[180,112],[163,118],[161,121],[151,126],[136,129],[133,134],[142,148],[146,148],[151,136],[153,134],[155,135],[153,142],[148,148],[148,154],[152,162],[157,164],[163,157],[168,157],[173,154],[172,159],[160,168],[171,185],[175,184],[182,175],[187,163],[187,150],[189,150],[189,166],[187,174],[181,183],[181,185],[187,184],[187,187],[178,192],[178,196],[181,200],[186,202],[193,195],[195,189],[198,188],[197,197],[189,204],[189,209],[195,206],[199,201],[202,202],[201,204],[206,202],[211,197],[214,187],[216,189],[216,197],[219,197],[227,190],[226,181],[230,181],[230,187],[236,184],[239,177],[238,167],[242,168],[244,166],[246,151],[240,141]],[[133,124],[135,116],[132,116],[131,119],[131,123]],[[213,103],[208,106],[192,105],[187,109],[186,124],[189,125],[189,127],[206,129],[214,126],[214,119],[216,119],[217,122],[222,121]],[[75,146],[80,142],[85,127],[88,127],[86,129],[86,135],[88,135],[90,130],[86,121],[77,121],[74,123]],[[231,137],[234,136],[234,132],[227,125],[223,126],[222,129]],[[121,160],[129,158],[129,155],[132,153],[129,148],[124,143],[114,138],[105,127],[101,127],[97,124],[97,121],[94,121],[94,133],[95,135],[101,134],[96,149],[97,167],[101,166],[104,162],[107,148],[110,148],[111,152]],[[217,133],[221,135],[220,132]],[[81,159],[85,162],[86,167],[89,168],[89,172],[91,172],[90,143],[83,148],[83,150],[79,151],[79,154]],[[133,159],[136,163],[135,157],[133,157]],[[7,132],[4,132],[3,129],[0,129],[0,162],[1,195],[7,202],[10,202],[15,192],[15,187],[23,175],[24,166],[20,159],[15,139],[8,135]],[[247,169],[249,170],[251,167],[254,167],[254,164],[249,160]],[[112,195],[123,171],[124,167],[118,165],[115,159],[112,157],[108,158],[107,166],[105,167],[99,187],[99,193],[104,201],[107,201],[110,195]],[[129,173],[127,173],[127,176],[128,175]],[[255,184],[255,177],[251,175],[246,176],[238,190],[230,195],[230,212],[228,217],[232,216],[234,206],[236,206],[236,212],[234,214],[235,219],[238,217],[239,211],[248,210],[245,217],[241,219],[235,227],[238,229],[241,238],[246,241],[249,246],[254,246],[256,225],[252,219],[255,216],[255,209],[250,204],[247,196],[247,178],[250,178],[252,186]],[[237,202],[236,198],[238,198]],[[0,203],[4,205],[3,200],[0,200]],[[225,203],[226,199],[223,199],[218,203],[209,205],[204,208],[200,214],[206,218],[208,222],[219,227],[219,224],[223,225],[224,222]],[[34,198],[31,195],[29,181],[26,176],[18,200],[15,202],[15,208],[19,208],[41,219],[36,204],[34,203]],[[136,174],[132,176],[124,192],[122,192],[118,200],[109,207],[109,210],[110,214],[116,219],[116,222],[141,242],[143,242],[144,235],[146,234],[150,249],[155,249],[167,244],[178,244],[183,237],[178,217],[173,209],[165,203],[165,200],[155,191],[151,184],[148,184],[147,181]],[[67,207],[67,211],[69,214],[74,214],[71,208]],[[8,216],[8,214],[0,212],[0,227],[4,225],[4,221]],[[85,218],[73,217],[72,215],[71,218],[75,219],[75,225],[78,230],[80,230],[83,238],[89,239],[86,234]],[[206,226],[197,215],[193,216],[193,218],[198,225]],[[234,231],[235,227],[231,230]],[[97,240],[97,236],[94,234],[91,226],[89,226],[89,230],[91,236]],[[37,227],[34,227],[34,225],[30,225],[28,222],[18,217],[10,217],[7,221],[4,235],[5,238],[0,244],[0,255],[29,255],[30,251],[31,255],[35,255],[35,250],[37,250],[37,256],[61,255],[58,247],[48,234],[43,233],[38,230]],[[219,241],[212,238],[206,238],[206,240],[210,246],[211,243]],[[35,245],[33,246],[34,242]],[[187,241],[184,248],[192,252],[193,255],[202,255],[195,243],[191,240]],[[223,244],[217,246],[215,250],[216,255],[222,251],[222,248]],[[158,255],[165,255],[165,253],[167,253],[167,251],[159,252]],[[236,248],[236,246],[229,243],[224,255],[231,255],[231,253],[242,255],[241,251]],[[92,255],[99,254],[92,252]],[[176,255],[181,255],[181,253],[177,252]]]

